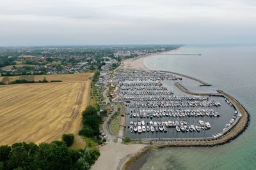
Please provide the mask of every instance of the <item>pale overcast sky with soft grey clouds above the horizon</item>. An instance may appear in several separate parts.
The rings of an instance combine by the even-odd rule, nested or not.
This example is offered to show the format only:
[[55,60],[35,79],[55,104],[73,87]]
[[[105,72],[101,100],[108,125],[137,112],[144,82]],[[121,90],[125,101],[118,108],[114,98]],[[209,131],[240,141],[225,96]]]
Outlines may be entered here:
[[0,46],[255,44],[255,0],[0,0]]

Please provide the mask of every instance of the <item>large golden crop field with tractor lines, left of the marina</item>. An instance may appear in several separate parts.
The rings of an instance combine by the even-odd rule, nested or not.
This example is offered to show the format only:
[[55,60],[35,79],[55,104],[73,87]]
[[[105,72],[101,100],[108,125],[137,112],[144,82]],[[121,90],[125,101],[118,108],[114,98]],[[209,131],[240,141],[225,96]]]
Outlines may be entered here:
[[92,75],[31,76],[35,81],[45,77],[63,82],[1,85],[0,145],[51,142],[71,132],[77,136],[81,111],[90,99]]

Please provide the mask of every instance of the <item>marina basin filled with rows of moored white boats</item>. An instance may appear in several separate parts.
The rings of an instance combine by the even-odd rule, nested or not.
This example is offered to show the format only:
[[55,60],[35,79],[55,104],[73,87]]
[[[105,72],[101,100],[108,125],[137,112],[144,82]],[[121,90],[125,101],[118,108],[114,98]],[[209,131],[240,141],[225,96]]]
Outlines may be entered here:
[[231,101],[221,95],[190,95],[175,87],[186,79],[164,71],[118,73],[118,93],[126,108],[125,136],[214,139],[236,125],[241,114]]

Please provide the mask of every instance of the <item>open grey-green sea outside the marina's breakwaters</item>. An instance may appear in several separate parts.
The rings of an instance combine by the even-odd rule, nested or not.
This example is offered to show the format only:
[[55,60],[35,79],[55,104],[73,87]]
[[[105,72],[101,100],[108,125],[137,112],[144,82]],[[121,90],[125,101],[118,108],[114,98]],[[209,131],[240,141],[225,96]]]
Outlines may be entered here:
[[[202,55],[175,55],[182,53]],[[236,97],[251,120],[246,131],[230,143],[153,150],[141,157],[134,169],[256,169],[256,46],[183,46],[166,55],[148,57],[144,63],[150,69],[183,73],[211,83]]]

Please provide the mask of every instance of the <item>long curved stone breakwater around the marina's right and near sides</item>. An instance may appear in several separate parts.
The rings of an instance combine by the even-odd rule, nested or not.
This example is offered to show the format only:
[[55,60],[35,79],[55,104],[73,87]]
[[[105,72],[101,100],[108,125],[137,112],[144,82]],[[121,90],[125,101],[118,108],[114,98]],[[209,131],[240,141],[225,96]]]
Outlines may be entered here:
[[[170,72],[169,72],[170,73]],[[131,159],[129,159],[125,165],[122,167],[122,169],[128,169],[128,167],[132,164],[132,162],[135,162],[137,159],[139,159],[142,155],[149,152],[153,148],[164,148],[166,146],[179,146],[179,147],[186,147],[186,146],[203,146],[203,147],[209,147],[209,146],[217,146],[217,145],[223,145],[225,143],[229,143],[233,139],[237,138],[243,131],[246,130],[246,127],[250,124],[250,114],[244,106],[239,103],[234,97],[230,96],[229,94],[223,92],[223,90],[217,90],[218,93],[214,94],[207,94],[207,93],[195,93],[190,92],[188,89],[180,85],[180,83],[175,83],[175,86],[178,87],[183,92],[186,92],[188,94],[198,95],[198,96],[222,96],[226,97],[228,100],[232,101],[232,103],[236,106],[236,108],[241,113],[241,118],[239,118],[236,125],[234,125],[231,129],[229,129],[225,134],[220,136],[219,138],[215,139],[178,139],[178,140],[152,140],[152,141],[139,141],[138,143],[148,144],[148,146],[145,146],[143,150],[140,150],[140,152],[131,155]],[[136,142],[136,141],[134,141]]]

